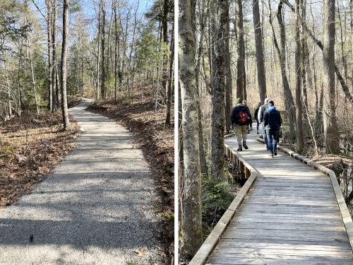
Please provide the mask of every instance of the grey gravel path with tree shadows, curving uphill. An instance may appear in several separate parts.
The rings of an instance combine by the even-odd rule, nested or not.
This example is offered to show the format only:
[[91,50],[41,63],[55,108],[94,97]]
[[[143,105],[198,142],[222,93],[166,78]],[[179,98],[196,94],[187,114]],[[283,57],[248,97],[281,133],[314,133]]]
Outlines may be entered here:
[[31,194],[0,211],[0,264],[161,264],[157,201],[133,136],[70,109],[78,147]]

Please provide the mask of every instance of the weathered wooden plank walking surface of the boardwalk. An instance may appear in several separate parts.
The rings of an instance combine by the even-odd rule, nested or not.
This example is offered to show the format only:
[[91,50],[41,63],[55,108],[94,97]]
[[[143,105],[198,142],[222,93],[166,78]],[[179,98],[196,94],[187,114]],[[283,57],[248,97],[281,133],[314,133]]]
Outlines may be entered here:
[[[235,137],[225,143],[237,149]],[[352,265],[330,177],[280,151],[271,158],[253,134],[248,146],[241,156],[259,175],[207,264]]]

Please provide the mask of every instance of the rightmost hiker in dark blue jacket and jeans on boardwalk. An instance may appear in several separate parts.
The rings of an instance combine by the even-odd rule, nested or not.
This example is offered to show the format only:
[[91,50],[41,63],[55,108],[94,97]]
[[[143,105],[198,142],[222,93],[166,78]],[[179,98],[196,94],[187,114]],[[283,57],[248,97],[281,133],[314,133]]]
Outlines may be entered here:
[[263,115],[263,126],[265,127],[267,139],[268,139],[268,149],[273,155],[277,155],[277,136],[278,130],[282,124],[281,114],[275,108],[275,102],[273,100],[268,101],[268,109]]

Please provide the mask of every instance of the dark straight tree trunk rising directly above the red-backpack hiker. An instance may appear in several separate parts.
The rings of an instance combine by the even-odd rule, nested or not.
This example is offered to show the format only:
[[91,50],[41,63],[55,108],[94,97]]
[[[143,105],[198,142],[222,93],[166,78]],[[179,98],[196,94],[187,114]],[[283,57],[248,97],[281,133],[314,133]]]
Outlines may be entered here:
[[238,59],[237,59],[237,98],[244,99],[245,82],[245,45],[244,45],[244,26],[243,26],[243,1],[237,0],[238,16],[237,30],[238,38]]

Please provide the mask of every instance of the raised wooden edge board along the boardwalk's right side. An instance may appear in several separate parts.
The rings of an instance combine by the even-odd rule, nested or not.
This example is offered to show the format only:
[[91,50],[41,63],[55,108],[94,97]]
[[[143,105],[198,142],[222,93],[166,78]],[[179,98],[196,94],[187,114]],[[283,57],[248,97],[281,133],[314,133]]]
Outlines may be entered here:
[[[264,142],[263,139],[259,137],[257,137],[256,140],[262,143]],[[340,185],[338,184],[335,172],[333,172],[333,170],[328,169],[327,167],[324,167],[323,165],[313,162],[309,158],[305,158],[303,155],[299,155],[299,153],[295,153],[294,151],[289,150],[288,148],[285,148],[283,146],[277,146],[277,148],[280,151],[286,153],[287,155],[292,156],[293,158],[297,158],[297,160],[305,163],[306,165],[310,165],[311,167],[315,168],[319,172],[323,172],[325,175],[328,175],[330,177],[331,184],[333,185],[333,191],[335,192],[335,196],[337,199],[337,204],[338,204],[338,207],[340,208],[342,220],[343,220],[343,223],[345,224],[346,232],[349,238],[349,243],[353,251],[353,221],[348,211],[345,198],[343,197],[343,194],[341,192]]]

